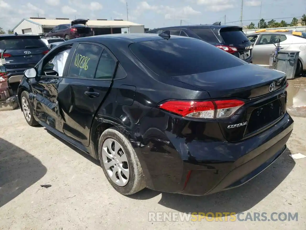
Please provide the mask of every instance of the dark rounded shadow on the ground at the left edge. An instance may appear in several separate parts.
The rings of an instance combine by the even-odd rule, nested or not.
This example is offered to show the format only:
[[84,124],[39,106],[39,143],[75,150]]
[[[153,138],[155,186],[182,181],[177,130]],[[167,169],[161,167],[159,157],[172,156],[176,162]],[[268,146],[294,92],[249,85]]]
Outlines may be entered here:
[[0,138],[0,207],[39,181],[47,168],[33,155]]

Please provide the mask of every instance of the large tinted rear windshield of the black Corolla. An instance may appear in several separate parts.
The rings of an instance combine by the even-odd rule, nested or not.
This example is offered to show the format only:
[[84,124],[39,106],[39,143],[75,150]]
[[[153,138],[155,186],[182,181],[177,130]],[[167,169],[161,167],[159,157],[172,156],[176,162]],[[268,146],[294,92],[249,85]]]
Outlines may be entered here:
[[149,69],[162,76],[191,75],[244,64],[232,54],[199,39],[144,41],[130,44],[130,49]]

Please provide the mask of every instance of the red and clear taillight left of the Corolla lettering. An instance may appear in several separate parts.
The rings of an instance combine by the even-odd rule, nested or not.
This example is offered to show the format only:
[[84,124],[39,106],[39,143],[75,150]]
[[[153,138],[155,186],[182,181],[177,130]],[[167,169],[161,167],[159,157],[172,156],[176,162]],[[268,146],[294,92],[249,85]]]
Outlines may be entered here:
[[218,101],[168,101],[159,108],[182,117],[218,119],[232,116],[242,105],[240,100]]

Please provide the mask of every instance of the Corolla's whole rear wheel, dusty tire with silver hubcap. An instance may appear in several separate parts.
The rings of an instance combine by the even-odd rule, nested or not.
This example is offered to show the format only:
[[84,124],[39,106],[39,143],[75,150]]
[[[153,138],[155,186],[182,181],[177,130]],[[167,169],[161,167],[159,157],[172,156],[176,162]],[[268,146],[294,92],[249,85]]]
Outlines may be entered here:
[[99,140],[99,160],[108,182],[123,195],[145,187],[138,157],[129,142],[115,128],[106,129]]

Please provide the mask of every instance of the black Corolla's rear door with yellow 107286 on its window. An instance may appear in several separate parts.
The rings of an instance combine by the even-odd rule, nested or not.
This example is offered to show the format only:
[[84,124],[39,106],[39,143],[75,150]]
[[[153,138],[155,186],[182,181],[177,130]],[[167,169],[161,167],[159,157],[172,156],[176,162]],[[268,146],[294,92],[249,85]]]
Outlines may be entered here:
[[58,103],[64,118],[63,132],[85,146],[99,106],[106,97],[117,59],[103,45],[80,42],[67,77],[58,86]]

